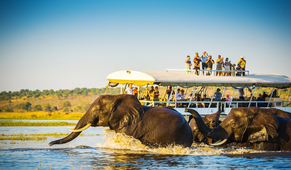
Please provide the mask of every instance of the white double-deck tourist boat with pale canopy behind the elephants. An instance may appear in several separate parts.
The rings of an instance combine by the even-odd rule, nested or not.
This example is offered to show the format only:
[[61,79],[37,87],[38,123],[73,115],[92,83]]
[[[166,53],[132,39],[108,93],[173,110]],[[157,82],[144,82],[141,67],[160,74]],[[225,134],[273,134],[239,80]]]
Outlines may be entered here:
[[[203,75],[195,75],[191,73],[189,70],[184,69],[166,69],[166,72],[148,72],[148,71],[134,71],[134,70],[121,70],[116,71],[107,76],[107,80],[109,84],[115,84],[117,86],[120,84],[120,93],[122,94],[127,84],[134,84],[135,86],[141,87],[148,85],[157,85],[168,87],[172,86],[172,93],[175,91],[177,94],[177,88],[186,89],[186,99],[180,101],[172,101],[165,100],[165,94],[162,99],[158,101],[145,101],[140,100],[141,103],[150,103],[150,106],[171,106],[175,108],[177,111],[182,113],[185,117],[189,116],[189,113],[184,112],[184,108],[192,108],[198,111],[201,115],[212,114],[217,112],[218,110],[222,110],[222,115],[227,115],[231,109],[231,104],[235,104],[235,107],[248,107],[248,106],[258,106],[258,101],[241,101],[238,96],[235,97],[235,92],[238,89],[248,89],[249,91],[255,92],[256,89],[260,89],[262,92],[262,88],[270,87],[272,88],[271,96],[276,92],[276,89],[287,89],[291,87],[291,78],[278,75],[278,74],[249,74],[248,71],[246,76],[213,76],[215,71],[212,70],[214,74],[212,76],[203,76]],[[206,71],[206,70],[205,70]],[[200,71],[201,73],[201,71]],[[233,74],[234,75],[234,74]],[[125,86],[123,86],[125,85]],[[207,89],[212,88],[213,93],[207,94]],[[214,100],[214,93],[218,87],[221,88],[222,100],[217,101]],[[226,88],[231,88],[233,90],[232,100],[228,105],[224,99],[226,94],[224,93]],[[213,90],[214,88],[214,90]],[[172,95],[171,93],[171,95]],[[209,102],[195,102],[193,100],[193,93],[202,93],[207,94],[211,100]],[[278,93],[278,92],[277,92]],[[289,97],[291,93],[291,88],[289,89],[289,95],[287,100],[283,101],[282,97],[267,97],[265,98],[267,107],[278,108],[283,111],[291,112]],[[143,93],[141,93],[143,94]],[[246,93],[245,93],[246,94]],[[160,95],[161,96],[161,95]],[[142,97],[142,96],[141,96]],[[246,99],[247,97],[244,96]],[[251,96],[253,98],[253,96]],[[288,104],[289,102],[289,104]],[[178,104],[177,104],[178,103]],[[201,104],[204,103],[205,108],[200,107]],[[289,106],[289,107],[288,107]]]

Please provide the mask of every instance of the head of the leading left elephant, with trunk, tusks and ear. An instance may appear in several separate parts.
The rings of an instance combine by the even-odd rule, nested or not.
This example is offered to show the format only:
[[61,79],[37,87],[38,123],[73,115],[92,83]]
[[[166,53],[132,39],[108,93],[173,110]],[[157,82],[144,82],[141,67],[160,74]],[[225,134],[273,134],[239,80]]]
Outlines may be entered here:
[[91,104],[70,135],[50,142],[49,145],[70,142],[90,126],[109,126],[117,131],[139,122],[143,114],[143,108],[135,95],[102,95]]

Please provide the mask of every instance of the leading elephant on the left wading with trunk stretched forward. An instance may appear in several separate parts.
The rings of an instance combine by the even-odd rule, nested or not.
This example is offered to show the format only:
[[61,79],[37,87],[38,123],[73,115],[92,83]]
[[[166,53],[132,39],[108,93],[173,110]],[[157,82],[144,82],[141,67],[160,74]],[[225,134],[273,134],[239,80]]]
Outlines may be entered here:
[[116,133],[133,136],[148,147],[170,144],[191,147],[192,130],[184,116],[167,106],[142,106],[135,95],[101,95],[88,108],[67,137],[52,141],[64,144],[76,138],[89,126],[109,126]]

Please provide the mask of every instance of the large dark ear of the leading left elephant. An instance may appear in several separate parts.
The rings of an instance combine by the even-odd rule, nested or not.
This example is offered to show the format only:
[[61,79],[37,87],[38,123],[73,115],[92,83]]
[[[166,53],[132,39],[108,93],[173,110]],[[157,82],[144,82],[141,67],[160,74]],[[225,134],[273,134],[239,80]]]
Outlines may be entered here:
[[115,95],[112,100],[113,112],[108,125],[114,130],[134,124],[142,119],[144,111],[135,95]]

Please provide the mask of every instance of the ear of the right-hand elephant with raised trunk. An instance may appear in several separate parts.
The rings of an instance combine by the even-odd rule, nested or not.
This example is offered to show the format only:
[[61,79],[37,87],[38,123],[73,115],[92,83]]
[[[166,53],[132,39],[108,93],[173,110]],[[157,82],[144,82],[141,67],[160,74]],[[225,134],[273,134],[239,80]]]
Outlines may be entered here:
[[251,123],[246,129],[248,141],[266,141],[278,136],[279,122],[274,114],[267,109],[249,108],[252,109]]

